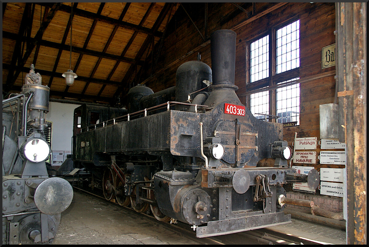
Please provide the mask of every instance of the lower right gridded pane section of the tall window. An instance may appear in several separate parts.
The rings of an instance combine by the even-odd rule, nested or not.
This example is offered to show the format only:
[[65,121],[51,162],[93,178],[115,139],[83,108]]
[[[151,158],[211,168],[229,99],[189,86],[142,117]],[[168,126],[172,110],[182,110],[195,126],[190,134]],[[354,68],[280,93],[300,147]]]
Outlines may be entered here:
[[[294,78],[285,82],[292,82],[300,78]],[[280,82],[285,83],[285,82]],[[277,88],[277,123],[297,121],[300,125],[300,83],[283,88]]]

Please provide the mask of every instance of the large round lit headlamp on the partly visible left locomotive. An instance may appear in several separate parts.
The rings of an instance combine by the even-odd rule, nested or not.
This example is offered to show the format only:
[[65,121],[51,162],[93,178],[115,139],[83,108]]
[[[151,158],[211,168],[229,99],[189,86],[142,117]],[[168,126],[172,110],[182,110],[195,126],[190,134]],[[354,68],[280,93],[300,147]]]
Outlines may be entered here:
[[29,161],[42,162],[49,157],[50,147],[41,138],[28,138],[23,145],[23,154]]

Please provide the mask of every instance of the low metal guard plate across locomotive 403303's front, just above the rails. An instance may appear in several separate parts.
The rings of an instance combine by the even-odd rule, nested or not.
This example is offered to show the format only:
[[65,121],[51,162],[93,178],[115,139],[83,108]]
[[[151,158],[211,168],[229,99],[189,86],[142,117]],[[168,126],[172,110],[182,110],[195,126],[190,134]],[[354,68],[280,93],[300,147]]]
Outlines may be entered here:
[[284,215],[284,212],[210,221],[207,223],[207,226],[196,228],[196,237],[201,238],[237,233],[289,222],[291,222],[291,215]]

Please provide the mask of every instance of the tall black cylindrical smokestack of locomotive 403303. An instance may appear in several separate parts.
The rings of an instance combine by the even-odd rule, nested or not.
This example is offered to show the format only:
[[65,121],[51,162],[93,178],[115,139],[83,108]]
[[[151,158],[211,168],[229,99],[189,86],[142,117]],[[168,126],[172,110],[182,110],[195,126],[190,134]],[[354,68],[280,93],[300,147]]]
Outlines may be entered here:
[[210,37],[210,49],[213,85],[234,85],[236,33],[232,30],[214,31]]

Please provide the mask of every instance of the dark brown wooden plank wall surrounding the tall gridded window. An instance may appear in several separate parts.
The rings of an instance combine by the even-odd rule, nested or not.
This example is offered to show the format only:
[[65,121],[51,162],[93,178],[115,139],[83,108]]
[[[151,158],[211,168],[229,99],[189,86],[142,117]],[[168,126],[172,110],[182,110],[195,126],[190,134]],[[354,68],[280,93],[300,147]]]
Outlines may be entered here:
[[[204,8],[201,4],[196,12],[190,12],[190,16],[200,16],[195,24],[204,35]],[[271,5],[269,3],[256,3],[256,13],[261,13]],[[246,10],[251,10],[247,8]],[[189,9],[186,8],[187,11]],[[232,16],[233,15],[233,16]],[[334,3],[287,3],[248,24],[245,23],[248,16],[245,12],[230,3],[208,4],[208,34],[218,29],[232,29],[237,33],[236,40],[236,67],[235,85],[242,91],[246,86],[246,44],[247,41],[263,34],[269,28],[288,22],[292,18],[300,20],[300,79],[311,80],[300,84],[300,126],[284,128],[284,140],[290,147],[297,137],[317,137],[320,140],[319,105],[334,103],[335,96],[335,66],[321,69],[321,50],[327,45],[335,43],[335,6]],[[177,17],[178,18],[178,17]],[[186,18],[184,16],[183,18]],[[188,19],[188,17],[187,17]],[[288,23],[287,23],[288,24]],[[238,28],[235,28],[238,27]],[[169,30],[169,28],[168,28]],[[175,85],[176,69],[183,62],[196,60],[197,52],[201,54],[201,61],[211,66],[210,45],[204,41],[194,25],[188,19],[177,21],[176,29],[163,42],[163,54],[159,57],[156,71],[162,69],[145,81],[145,85],[154,92]],[[183,57],[181,59],[181,57]],[[166,67],[170,65],[169,67]],[[317,76],[330,74],[320,79]],[[142,76],[147,78],[148,76]],[[248,105],[247,97],[240,97],[241,102]],[[292,147],[293,148],[293,147]],[[313,150],[319,154],[320,146]],[[327,151],[327,150],[323,150]],[[343,150],[341,150],[343,151]],[[263,165],[273,165],[274,161],[266,161]],[[303,165],[303,164],[298,164]],[[306,164],[306,166],[312,166]],[[317,159],[314,165],[316,169],[321,167],[344,168],[344,165],[321,165]]]

